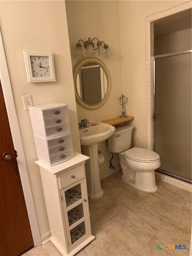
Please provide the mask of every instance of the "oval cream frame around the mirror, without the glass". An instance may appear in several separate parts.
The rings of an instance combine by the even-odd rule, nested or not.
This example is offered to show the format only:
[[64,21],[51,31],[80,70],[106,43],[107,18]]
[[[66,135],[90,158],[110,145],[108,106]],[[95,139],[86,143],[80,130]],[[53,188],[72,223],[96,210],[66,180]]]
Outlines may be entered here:
[[[97,104],[95,105],[89,105],[87,103],[85,103],[79,96],[78,94],[78,91],[77,91],[77,75],[79,73],[79,70],[82,66],[84,66],[85,64],[89,63],[89,62],[94,62],[96,63],[97,65],[99,65],[105,75],[106,75],[106,79],[107,79],[107,90],[106,90],[106,93],[105,93],[105,96],[104,98]],[[86,108],[86,109],[96,109],[96,108],[99,108],[101,107],[105,101],[107,100],[108,96],[109,96],[109,92],[110,92],[110,88],[111,88],[111,79],[110,79],[110,75],[109,75],[109,71],[107,69],[107,67],[103,64],[102,61],[100,61],[99,59],[97,58],[84,58],[82,60],[80,60],[77,65],[75,66],[74,70],[73,70],[73,81],[74,81],[74,87],[75,87],[75,98],[76,98],[76,101],[79,103],[79,105],[81,105],[83,108]]]

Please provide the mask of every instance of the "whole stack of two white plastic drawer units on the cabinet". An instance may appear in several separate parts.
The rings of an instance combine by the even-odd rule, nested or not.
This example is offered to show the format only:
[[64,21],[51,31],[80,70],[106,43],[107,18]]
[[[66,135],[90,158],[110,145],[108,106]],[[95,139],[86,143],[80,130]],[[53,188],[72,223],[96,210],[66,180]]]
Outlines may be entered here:
[[73,157],[67,104],[29,107],[37,157],[48,166]]

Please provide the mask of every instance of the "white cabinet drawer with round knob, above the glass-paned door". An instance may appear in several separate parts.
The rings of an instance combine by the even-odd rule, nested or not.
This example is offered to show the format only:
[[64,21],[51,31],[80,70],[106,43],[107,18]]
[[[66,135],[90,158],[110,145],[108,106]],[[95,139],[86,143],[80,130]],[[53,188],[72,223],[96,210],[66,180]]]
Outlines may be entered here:
[[84,170],[83,170],[83,166],[81,165],[68,172],[65,172],[59,175],[60,188],[62,189],[82,178],[84,178]]

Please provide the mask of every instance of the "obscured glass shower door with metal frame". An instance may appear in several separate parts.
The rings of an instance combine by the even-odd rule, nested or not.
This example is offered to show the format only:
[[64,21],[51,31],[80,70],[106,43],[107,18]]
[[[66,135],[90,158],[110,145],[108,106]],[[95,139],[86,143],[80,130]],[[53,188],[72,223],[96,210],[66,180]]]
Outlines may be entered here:
[[154,151],[160,172],[191,182],[191,51],[154,57]]

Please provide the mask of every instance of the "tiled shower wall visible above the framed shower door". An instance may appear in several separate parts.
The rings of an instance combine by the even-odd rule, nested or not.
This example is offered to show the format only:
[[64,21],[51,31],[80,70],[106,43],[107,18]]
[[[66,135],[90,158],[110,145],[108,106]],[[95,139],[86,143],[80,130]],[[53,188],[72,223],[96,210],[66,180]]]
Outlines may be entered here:
[[155,36],[154,55],[191,50],[191,28]]

